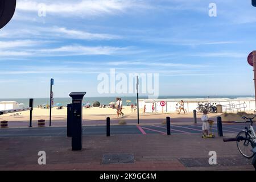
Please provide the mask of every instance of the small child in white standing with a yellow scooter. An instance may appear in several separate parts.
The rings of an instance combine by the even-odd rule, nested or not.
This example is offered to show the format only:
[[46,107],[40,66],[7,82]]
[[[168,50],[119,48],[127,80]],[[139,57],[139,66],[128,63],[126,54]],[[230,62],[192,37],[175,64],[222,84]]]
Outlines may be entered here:
[[[202,126],[203,135],[202,135],[202,138],[214,138],[215,136],[212,134],[213,121],[208,118],[208,115],[207,115],[208,111],[207,110],[204,110],[203,113],[204,114],[201,117],[201,120],[203,121],[203,126]],[[209,129],[210,129],[210,134],[208,135]]]

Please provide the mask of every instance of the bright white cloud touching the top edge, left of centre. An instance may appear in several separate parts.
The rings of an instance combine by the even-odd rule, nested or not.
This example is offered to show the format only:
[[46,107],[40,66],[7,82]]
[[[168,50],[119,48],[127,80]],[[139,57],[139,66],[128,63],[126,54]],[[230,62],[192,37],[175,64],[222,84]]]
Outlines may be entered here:
[[38,11],[40,3],[46,5],[47,14],[61,16],[77,15],[81,17],[98,16],[103,14],[122,13],[127,9],[137,6],[138,1],[124,0],[98,0],[98,1],[18,1],[19,11]]

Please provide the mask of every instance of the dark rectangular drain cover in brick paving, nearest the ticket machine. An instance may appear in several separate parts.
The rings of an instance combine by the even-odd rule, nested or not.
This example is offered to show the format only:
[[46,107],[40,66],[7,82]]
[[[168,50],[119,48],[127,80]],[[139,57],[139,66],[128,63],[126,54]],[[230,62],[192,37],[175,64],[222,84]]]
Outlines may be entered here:
[[131,154],[105,154],[102,164],[123,164],[134,163],[134,156]]

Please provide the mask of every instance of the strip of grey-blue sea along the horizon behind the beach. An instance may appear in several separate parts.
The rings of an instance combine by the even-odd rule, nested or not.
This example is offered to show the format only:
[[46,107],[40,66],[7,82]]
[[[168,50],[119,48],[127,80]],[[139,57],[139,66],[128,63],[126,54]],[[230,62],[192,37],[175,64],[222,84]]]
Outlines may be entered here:
[[[159,99],[167,99],[167,98],[238,98],[238,97],[254,97],[254,96],[159,96]],[[137,102],[137,96],[135,97],[121,97],[123,104],[135,104]],[[141,96],[139,99],[146,99],[148,97]],[[0,101],[17,101],[22,104],[24,107],[28,107],[29,98],[0,98]],[[115,97],[85,97],[83,100],[83,104],[92,105],[93,102],[100,102],[101,105],[109,105],[110,102],[115,102]],[[131,101],[131,102],[126,102]],[[34,107],[39,105],[48,104],[49,98],[34,98]],[[72,103],[72,98],[53,98],[54,105],[63,105],[67,106],[67,104]]]

